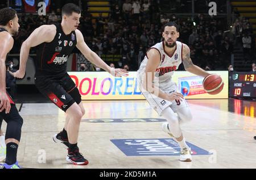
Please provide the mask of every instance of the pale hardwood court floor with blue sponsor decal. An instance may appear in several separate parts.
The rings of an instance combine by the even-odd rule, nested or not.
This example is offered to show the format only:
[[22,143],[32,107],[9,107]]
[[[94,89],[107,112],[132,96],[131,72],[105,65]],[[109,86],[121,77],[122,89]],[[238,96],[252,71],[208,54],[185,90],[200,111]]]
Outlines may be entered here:
[[[146,101],[83,103],[86,114],[80,125],[78,145],[80,152],[89,160],[89,165],[68,164],[65,161],[67,150],[53,143],[52,136],[64,127],[65,115],[51,103],[22,104],[20,115],[24,124],[18,150],[19,164],[26,168],[85,169],[256,168],[256,140],[253,139],[256,136],[255,102],[234,99],[188,100],[193,120],[181,126],[183,134],[189,143],[212,153],[196,154],[192,156],[192,162],[180,162],[177,154],[179,149],[167,147],[161,141],[170,139],[174,143],[162,131],[161,117]],[[20,104],[17,106],[19,109]],[[5,131],[6,123],[2,127]],[[135,143],[132,148],[127,148],[127,142],[138,143],[144,139],[159,142],[162,151],[152,144],[143,143],[139,146]],[[167,150],[163,150],[166,147]],[[122,148],[125,149],[123,152]],[[150,156],[144,156],[143,153],[135,156],[143,148],[150,150],[150,153],[144,153]],[[164,153],[167,155],[163,156]]]

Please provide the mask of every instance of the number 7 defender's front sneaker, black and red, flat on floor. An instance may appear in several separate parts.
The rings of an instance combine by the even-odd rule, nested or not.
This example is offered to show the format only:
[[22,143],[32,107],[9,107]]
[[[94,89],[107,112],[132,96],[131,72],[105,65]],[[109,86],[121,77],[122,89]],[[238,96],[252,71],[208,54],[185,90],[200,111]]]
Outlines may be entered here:
[[79,152],[79,148],[75,149],[73,152],[68,149],[68,156],[66,160],[74,165],[88,165],[89,161],[82,156]]

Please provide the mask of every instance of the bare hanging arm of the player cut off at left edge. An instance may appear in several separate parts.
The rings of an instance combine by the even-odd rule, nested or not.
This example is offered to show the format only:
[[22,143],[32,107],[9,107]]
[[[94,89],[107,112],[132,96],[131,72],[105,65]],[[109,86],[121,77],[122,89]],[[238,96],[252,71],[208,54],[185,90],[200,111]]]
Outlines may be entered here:
[[13,37],[8,32],[2,32],[0,35],[0,112],[5,109],[5,113],[10,112],[10,100],[6,94],[6,66],[5,60],[7,53],[13,48]]

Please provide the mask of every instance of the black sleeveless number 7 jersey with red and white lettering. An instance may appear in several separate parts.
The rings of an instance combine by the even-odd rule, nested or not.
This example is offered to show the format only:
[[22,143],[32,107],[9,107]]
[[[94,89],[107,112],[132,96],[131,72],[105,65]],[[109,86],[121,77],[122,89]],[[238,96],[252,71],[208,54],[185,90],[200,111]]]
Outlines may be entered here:
[[63,77],[67,72],[68,56],[76,47],[76,32],[65,35],[61,24],[55,24],[56,35],[50,43],[39,44],[36,52],[35,76]]

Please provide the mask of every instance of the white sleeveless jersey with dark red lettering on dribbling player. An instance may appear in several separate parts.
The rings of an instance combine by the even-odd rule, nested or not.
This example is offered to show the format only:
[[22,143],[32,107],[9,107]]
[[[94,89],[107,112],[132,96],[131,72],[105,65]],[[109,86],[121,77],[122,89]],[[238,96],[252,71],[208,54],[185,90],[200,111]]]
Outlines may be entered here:
[[[160,53],[160,64],[156,69],[154,82],[171,81],[172,74],[174,74],[174,71],[179,68],[179,65],[182,62],[183,44],[180,41],[176,41],[176,49],[172,55],[168,55],[168,53],[164,51],[163,44],[164,44],[164,41],[157,43],[150,48],[150,49],[152,48],[157,49]],[[139,67],[139,70],[137,71],[139,78],[142,78],[143,74],[145,73],[147,61],[148,61],[148,58],[146,53],[146,56],[144,57],[144,60],[141,62],[141,66]],[[155,61],[159,61],[159,60],[155,60]]]

